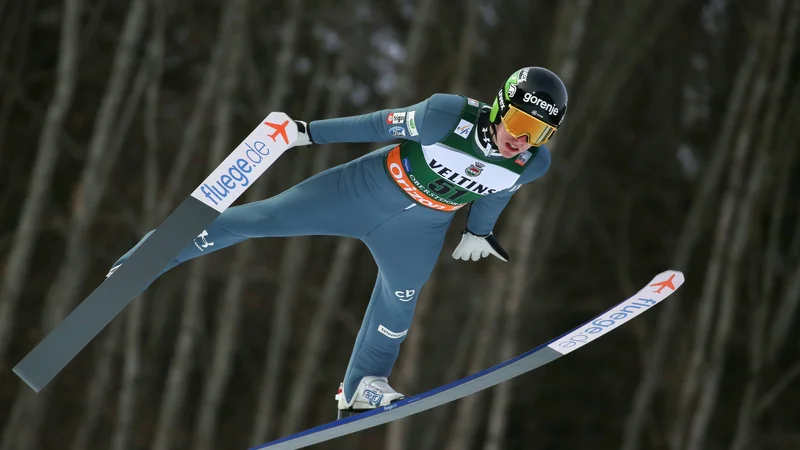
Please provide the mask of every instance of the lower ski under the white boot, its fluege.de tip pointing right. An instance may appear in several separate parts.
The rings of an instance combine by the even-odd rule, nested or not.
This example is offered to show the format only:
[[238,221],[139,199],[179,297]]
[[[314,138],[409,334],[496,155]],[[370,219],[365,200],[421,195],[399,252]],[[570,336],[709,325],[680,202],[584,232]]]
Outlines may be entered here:
[[634,296],[607,310],[591,321],[508,361],[445,386],[432,389],[413,397],[407,397],[397,403],[335,420],[291,436],[268,442],[259,447],[254,447],[251,450],[290,450],[307,447],[382,425],[387,422],[392,422],[403,417],[408,417],[508,381],[584,347],[614,328],[630,321],[669,297],[670,294],[675,292],[675,290],[683,284],[683,281],[684,277],[682,272],[667,270],[656,275],[650,283],[639,290]]

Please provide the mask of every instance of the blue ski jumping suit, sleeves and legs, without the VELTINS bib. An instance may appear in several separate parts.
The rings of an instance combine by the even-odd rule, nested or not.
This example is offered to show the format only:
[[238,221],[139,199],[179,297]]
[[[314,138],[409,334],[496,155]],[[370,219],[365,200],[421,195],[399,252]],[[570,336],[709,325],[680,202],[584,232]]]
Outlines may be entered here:
[[[435,94],[407,108],[312,121],[309,131],[315,144],[385,142],[398,137],[435,144],[463,121],[468,100],[478,104],[460,95]],[[413,122],[393,121],[398,112],[413,112]],[[406,133],[412,125],[414,132]],[[433,270],[454,216],[452,211],[424,206],[400,189],[386,166],[392,147],[325,170],[272,198],[227,209],[161,274],[250,238],[336,235],[363,241],[375,258],[378,277],[345,373],[349,400],[362,377],[390,375],[411,327],[420,289]],[[549,165],[550,155],[540,147],[513,188],[470,202],[468,229],[477,235],[490,233],[516,188],[542,176]],[[135,249],[114,266],[124,263]]]

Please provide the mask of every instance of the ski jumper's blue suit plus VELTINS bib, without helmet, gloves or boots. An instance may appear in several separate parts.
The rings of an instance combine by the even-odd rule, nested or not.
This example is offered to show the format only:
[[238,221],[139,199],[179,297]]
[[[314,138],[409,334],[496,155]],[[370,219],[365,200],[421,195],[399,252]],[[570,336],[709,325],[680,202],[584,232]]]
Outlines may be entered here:
[[360,239],[375,258],[378,276],[345,373],[349,400],[362,377],[390,375],[454,212],[470,205],[467,228],[487,235],[514,191],[550,165],[544,147],[502,157],[489,138],[489,109],[464,96],[435,94],[407,108],[310,122],[315,144],[401,143],[325,170],[274,197],[228,208],[159,276],[251,238]]

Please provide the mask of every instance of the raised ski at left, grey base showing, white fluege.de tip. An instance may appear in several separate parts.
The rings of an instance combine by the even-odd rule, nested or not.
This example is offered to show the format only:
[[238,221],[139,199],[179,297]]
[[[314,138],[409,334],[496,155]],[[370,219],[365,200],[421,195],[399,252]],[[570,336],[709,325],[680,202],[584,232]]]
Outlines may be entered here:
[[270,113],[188,196],[124,264],[108,277],[15,367],[39,392],[297,139],[297,124]]

